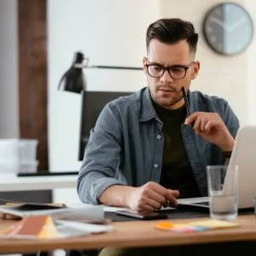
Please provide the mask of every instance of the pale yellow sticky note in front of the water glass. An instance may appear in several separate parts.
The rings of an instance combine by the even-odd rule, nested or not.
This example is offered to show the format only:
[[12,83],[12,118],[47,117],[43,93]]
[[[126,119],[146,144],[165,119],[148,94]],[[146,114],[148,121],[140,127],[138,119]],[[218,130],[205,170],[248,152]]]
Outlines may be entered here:
[[229,222],[229,221],[218,220],[218,219],[192,221],[192,222],[189,222],[189,225],[203,226],[210,229],[232,228],[232,227],[240,226],[240,224],[236,222]]

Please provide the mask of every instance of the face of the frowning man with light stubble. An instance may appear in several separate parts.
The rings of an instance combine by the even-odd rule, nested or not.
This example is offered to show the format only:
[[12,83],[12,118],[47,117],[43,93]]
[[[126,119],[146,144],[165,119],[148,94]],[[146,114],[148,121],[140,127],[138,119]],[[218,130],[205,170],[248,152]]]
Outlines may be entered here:
[[[154,102],[169,109],[183,106],[184,100],[181,88],[184,87],[186,91],[189,90],[191,79],[196,78],[200,68],[200,63],[198,61],[194,62],[194,57],[186,40],[179,41],[177,44],[163,44],[156,39],[151,40],[148,45],[148,57],[143,58],[143,69],[147,75],[150,94]],[[167,71],[160,78],[154,78],[148,75],[146,66],[152,63],[156,66],[148,67],[151,68],[151,73],[158,72],[157,65],[173,67],[171,74],[174,77],[184,71],[183,67],[189,68],[183,79],[173,79]]]

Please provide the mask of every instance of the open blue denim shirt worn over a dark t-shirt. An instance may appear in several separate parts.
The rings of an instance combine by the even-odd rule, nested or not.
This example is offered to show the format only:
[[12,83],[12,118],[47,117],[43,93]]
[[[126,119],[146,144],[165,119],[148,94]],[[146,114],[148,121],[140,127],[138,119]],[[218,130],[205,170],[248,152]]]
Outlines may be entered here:
[[[217,96],[188,92],[191,113],[216,112],[236,137],[239,121],[229,104]],[[90,131],[79,171],[78,194],[81,201],[97,204],[109,186],[141,186],[148,181],[160,182],[164,148],[163,123],[154,111],[148,87],[131,96],[108,102]],[[218,146],[181,125],[183,143],[201,196],[207,195],[207,165],[224,164]],[[173,145],[175,147],[175,145]]]

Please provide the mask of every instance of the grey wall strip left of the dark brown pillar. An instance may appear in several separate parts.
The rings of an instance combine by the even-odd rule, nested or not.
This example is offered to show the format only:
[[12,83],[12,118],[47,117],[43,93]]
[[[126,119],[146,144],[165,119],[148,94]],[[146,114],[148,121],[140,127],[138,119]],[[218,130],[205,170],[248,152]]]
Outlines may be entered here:
[[0,0],[0,138],[19,137],[17,1]]

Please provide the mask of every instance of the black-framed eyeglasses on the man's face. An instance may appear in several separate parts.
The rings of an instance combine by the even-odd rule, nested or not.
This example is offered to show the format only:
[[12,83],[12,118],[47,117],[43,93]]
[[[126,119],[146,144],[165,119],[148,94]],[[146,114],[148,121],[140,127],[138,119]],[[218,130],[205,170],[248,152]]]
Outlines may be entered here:
[[[147,59],[148,61],[148,59]],[[172,79],[183,79],[186,76],[187,70],[189,67],[194,64],[192,61],[188,66],[183,65],[173,65],[170,67],[164,67],[158,63],[150,63],[146,64],[148,75],[152,78],[159,79],[166,71],[169,73]]]

